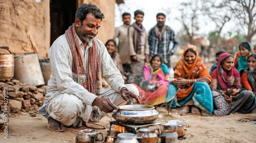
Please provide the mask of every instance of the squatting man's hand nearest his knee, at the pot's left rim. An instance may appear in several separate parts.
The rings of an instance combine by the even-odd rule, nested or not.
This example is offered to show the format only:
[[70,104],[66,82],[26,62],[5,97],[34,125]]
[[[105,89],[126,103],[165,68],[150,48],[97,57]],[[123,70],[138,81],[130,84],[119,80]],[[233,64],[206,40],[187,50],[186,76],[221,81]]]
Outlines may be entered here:
[[97,97],[93,103],[92,106],[98,106],[99,109],[105,113],[110,113],[113,110],[118,110],[118,108],[116,107],[116,105],[114,105],[112,103],[112,101],[108,98],[100,98]]

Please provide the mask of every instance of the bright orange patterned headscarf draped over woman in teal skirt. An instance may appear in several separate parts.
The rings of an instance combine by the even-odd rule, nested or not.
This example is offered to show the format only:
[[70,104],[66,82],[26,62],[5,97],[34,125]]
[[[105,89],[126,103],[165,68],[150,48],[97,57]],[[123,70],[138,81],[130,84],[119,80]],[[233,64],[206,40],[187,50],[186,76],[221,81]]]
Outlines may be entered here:
[[[196,59],[192,64],[188,64],[185,60],[185,53],[188,49],[193,49],[196,52]],[[174,78],[198,79],[201,77],[207,78],[210,82],[212,81],[208,69],[198,56],[197,47],[195,45],[188,45],[185,47],[182,58],[176,64]],[[179,101],[186,98],[192,89],[193,84],[183,86],[181,90],[178,90],[176,93],[177,100]]]

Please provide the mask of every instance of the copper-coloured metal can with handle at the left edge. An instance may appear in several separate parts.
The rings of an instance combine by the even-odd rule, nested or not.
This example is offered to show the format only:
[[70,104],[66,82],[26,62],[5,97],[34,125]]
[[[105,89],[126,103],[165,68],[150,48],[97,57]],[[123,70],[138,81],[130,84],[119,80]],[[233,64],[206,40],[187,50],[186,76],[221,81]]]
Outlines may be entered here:
[[[1,49],[9,51],[8,46],[1,46]],[[12,79],[14,76],[14,55],[9,51],[10,54],[0,54],[0,80]]]

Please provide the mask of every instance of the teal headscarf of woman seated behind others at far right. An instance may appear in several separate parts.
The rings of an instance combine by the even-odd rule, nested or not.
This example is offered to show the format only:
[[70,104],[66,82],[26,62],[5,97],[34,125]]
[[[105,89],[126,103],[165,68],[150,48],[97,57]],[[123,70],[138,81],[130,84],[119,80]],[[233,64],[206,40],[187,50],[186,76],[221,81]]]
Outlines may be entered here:
[[[248,43],[249,44],[249,49],[248,49],[248,47],[245,47],[245,48],[248,49],[249,51],[251,51],[251,53],[253,53],[253,47],[252,47],[250,42],[243,41],[242,43]],[[243,58],[242,56],[239,56],[238,57],[238,71],[239,71],[239,73],[241,73],[242,70],[246,70],[246,69],[247,69],[247,58]]]

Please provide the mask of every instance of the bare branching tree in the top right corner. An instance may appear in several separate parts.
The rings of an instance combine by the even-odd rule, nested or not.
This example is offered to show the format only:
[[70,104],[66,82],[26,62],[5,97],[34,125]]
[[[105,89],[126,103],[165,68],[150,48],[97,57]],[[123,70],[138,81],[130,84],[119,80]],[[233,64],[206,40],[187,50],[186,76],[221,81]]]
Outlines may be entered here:
[[245,39],[251,42],[251,38],[256,34],[255,0],[225,0],[225,5],[244,30]]

